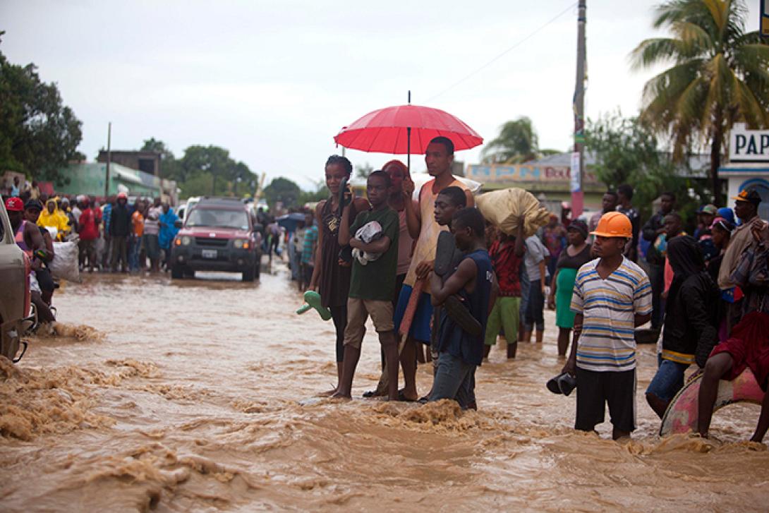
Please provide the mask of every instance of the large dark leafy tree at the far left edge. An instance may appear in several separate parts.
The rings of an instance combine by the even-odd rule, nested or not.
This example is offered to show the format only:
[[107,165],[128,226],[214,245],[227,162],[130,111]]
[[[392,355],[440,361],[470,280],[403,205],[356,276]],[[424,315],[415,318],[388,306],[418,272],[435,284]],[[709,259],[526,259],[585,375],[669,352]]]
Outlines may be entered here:
[[0,169],[62,185],[59,169],[85,159],[77,150],[82,122],[63,105],[55,83],[41,82],[35,69],[0,53]]

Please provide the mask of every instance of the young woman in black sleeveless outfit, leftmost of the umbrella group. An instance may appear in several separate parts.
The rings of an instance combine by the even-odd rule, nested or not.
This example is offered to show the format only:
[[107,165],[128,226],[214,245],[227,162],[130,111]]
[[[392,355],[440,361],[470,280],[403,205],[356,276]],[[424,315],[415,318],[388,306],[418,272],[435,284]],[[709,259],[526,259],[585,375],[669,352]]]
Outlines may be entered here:
[[[350,265],[341,261],[339,252],[339,190],[341,182],[349,180],[352,163],[345,157],[331,155],[326,161],[326,187],[331,196],[318,203],[315,218],[318,221],[318,250],[315,251],[315,267],[310,278],[310,290],[317,290],[321,303],[331,311],[336,330],[337,385],[322,395],[335,394],[341,381],[342,361],[345,355],[345,327],[347,326],[347,295],[350,288]],[[355,219],[358,212],[368,210],[365,198],[355,198],[346,209],[348,222]]]

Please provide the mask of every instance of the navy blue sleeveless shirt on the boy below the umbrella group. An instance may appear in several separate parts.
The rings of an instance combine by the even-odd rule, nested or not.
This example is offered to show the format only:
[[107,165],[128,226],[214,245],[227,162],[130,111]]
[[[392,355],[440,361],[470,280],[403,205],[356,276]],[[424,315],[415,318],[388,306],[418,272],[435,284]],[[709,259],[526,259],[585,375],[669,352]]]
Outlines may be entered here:
[[[438,350],[447,351],[451,356],[461,358],[462,361],[469,365],[481,365],[494,270],[491,266],[491,258],[489,258],[488,252],[485,249],[476,249],[474,252],[468,253],[468,255],[464,255],[461,261],[464,261],[465,258],[472,258],[475,262],[477,272],[475,276],[475,290],[470,294],[463,287],[458,294],[464,299],[464,305],[468,307],[473,317],[481,323],[481,335],[473,337],[467,331],[464,331],[454,322],[454,319],[448,316],[446,309],[442,308]],[[456,271],[456,268],[454,268],[454,271]]]

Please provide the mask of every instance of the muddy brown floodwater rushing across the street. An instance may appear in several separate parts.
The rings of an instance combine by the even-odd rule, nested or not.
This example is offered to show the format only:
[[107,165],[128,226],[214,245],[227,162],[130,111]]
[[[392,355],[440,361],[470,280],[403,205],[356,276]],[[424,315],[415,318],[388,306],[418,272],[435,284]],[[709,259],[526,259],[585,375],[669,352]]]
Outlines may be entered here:
[[[571,429],[544,347],[504,345],[477,374],[480,411],[300,401],[335,381],[333,326],[293,313],[285,268],[235,275],[85,275],[55,296],[59,334],[0,362],[2,511],[766,511],[754,405],[716,414],[715,441],[660,440],[642,391],[632,441]],[[546,321],[553,325],[548,312]],[[369,330],[354,394],[378,377]],[[429,365],[418,384],[428,391]]]

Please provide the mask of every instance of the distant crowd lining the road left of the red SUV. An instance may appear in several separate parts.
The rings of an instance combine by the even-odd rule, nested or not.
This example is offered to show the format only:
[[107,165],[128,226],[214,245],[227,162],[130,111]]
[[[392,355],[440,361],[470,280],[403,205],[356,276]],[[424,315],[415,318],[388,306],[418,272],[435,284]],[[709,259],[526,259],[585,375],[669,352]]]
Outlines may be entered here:
[[125,192],[101,204],[87,195],[48,198],[32,182],[8,190],[4,201],[16,244],[29,257],[38,321],[49,326],[55,321],[52,298],[58,288],[50,268],[55,242],[77,245],[80,271],[158,272],[178,232],[178,216],[160,198],[137,198],[133,205]]

